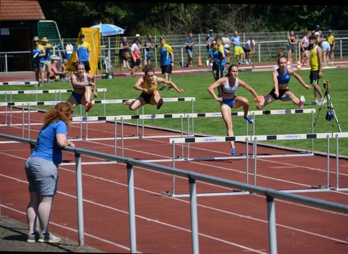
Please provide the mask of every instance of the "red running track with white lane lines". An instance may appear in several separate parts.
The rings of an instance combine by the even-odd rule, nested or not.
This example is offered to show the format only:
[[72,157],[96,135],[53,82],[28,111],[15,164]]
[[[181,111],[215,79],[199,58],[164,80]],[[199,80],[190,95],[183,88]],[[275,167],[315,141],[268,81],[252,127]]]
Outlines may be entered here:
[[[40,122],[42,113],[32,113],[31,122]],[[22,114],[13,121],[22,122]],[[5,122],[4,114],[0,123]],[[31,126],[36,138],[40,125]],[[1,133],[22,136],[22,126],[1,126]],[[88,125],[88,137],[111,137],[111,123]],[[79,136],[79,124],[71,124],[70,138]],[[120,127],[118,127],[118,135]],[[125,125],[125,135],[136,134],[135,127]],[[146,129],[145,134],[170,132]],[[27,130],[24,137],[28,137]],[[125,140],[125,157],[136,159],[171,159],[169,138]],[[4,141],[1,139],[1,141]],[[113,154],[113,141],[75,141],[79,148]],[[238,143],[239,152],[245,144]],[[175,148],[180,155],[181,145]],[[185,146],[185,151],[187,147]],[[252,151],[252,147],[249,147]],[[226,157],[228,143],[191,143],[190,157]],[[292,152],[258,145],[258,154]],[[26,222],[29,201],[24,161],[29,145],[0,143],[1,215]],[[120,142],[117,154],[121,154]],[[74,162],[74,154],[63,152],[64,162]],[[82,156],[82,161],[100,159]],[[172,166],[172,162],[157,162]],[[175,166],[198,173],[246,182],[245,159],[220,161],[176,161]],[[249,183],[253,184],[250,161]],[[331,186],[335,186],[335,159],[330,159]],[[340,159],[340,187],[348,187],[348,161]],[[129,253],[127,170],[124,164],[83,165],[85,244],[104,252]],[[326,157],[278,157],[258,159],[257,183],[278,190],[310,189],[326,185]],[[141,253],[191,253],[189,198],[171,198],[173,175],[135,167],[136,246]],[[198,182],[197,193],[230,192],[212,184]],[[189,193],[187,179],[175,177],[175,193]],[[348,203],[347,191],[301,193],[337,203]],[[264,196],[198,197],[198,232],[200,253],[269,253],[267,204]],[[61,165],[58,194],[52,209],[50,230],[56,235],[78,241],[77,199],[74,165]],[[307,205],[276,200],[278,253],[348,253],[348,214],[328,212]]]

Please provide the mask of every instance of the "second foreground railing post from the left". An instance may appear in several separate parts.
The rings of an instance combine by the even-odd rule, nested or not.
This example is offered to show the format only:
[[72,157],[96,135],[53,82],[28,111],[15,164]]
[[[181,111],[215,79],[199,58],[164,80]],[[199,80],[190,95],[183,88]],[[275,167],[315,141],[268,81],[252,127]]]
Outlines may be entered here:
[[127,163],[128,209],[129,209],[129,241],[131,253],[136,253],[135,200],[134,200],[134,170]]

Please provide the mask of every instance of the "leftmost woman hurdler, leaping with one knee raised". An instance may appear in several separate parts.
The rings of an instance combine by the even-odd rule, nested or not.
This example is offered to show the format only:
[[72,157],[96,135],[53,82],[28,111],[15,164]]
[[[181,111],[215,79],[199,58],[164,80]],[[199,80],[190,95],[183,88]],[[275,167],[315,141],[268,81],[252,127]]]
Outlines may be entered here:
[[92,108],[92,87],[94,97],[97,97],[96,77],[95,74],[90,74],[85,72],[84,63],[78,62],[76,65],[77,72],[71,74],[71,84],[74,90],[70,95],[68,102],[72,107],[84,104],[86,105],[86,112]]

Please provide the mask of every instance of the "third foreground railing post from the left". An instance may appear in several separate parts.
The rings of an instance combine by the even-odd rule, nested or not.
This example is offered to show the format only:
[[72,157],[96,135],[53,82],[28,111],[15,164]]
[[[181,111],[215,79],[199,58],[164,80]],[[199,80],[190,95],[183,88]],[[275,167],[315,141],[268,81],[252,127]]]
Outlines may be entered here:
[[199,253],[198,245],[198,215],[197,215],[197,195],[196,195],[196,180],[189,178],[190,189],[190,208],[191,208],[191,240],[192,253]]

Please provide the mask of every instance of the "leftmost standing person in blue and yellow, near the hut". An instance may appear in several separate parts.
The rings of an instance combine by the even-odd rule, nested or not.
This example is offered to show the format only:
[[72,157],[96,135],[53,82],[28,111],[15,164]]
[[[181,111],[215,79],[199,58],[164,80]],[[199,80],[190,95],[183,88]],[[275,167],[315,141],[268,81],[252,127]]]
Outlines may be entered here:
[[38,36],[33,38],[33,68],[35,70],[35,79],[38,81],[38,86],[44,86],[45,72],[44,64],[46,55],[45,47],[40,45]]

